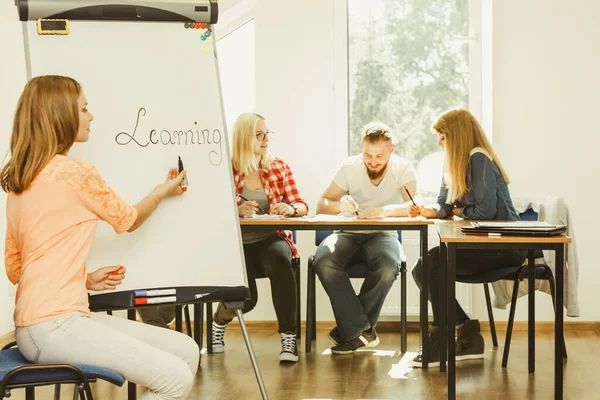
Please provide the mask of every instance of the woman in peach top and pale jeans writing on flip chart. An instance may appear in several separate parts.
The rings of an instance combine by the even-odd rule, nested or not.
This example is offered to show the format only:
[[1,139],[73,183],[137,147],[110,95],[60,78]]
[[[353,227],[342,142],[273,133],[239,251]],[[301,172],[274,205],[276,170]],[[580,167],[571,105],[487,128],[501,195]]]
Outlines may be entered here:
[[198,368],[198,346],[181,333],[91,314],[87,290],[114,289],[119,266],[88,273],[86,258],[98,220],[132,232],[160,202],[181,194],[185,172],[170,170],[134,206],[96,168],[67,157],[90,134],[92,114],[81,86],[62,76],[30,80],[17,104],[11,155],[2,168],[6,206],[5,264],[19,284],[16,339],[34,363],[90,364],[120,372],[149,390],[141,399],[185,399]]

